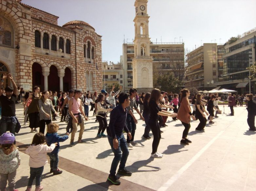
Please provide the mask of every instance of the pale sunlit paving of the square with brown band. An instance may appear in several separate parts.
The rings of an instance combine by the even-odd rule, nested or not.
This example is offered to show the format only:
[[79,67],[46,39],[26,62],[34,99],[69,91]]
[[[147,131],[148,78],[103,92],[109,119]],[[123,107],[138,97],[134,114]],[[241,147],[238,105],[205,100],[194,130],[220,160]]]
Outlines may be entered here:
[[[220,109],[223,110],[222,106]],[[214,125],[206,125],[205,132],[196,132],[199,121],[191,122],[190,145],[181,145],[184,129],[180,121],[167,120],[167,127],[160,141],[158,152],[163,158],[151,158],[152,141],[141,139],[145,124],[138,120],[135,142],[129,148],[126,168],[133,172],[131,177],[120,177],[120,185],[107,182],[110,165],[114,157],[107,138],[97,138],[98,123],[95,117],[85,124],[84,144],[69,146],[69,139],[61,142],[60,175],[50,174],[45,166],[42,184],[44,191],[75,190],[175,190],[175,191],[235,191],[255,190],[256,187],[256,132],[248,131],[246,107],[236,107],[235,116],[225,113],[214,119]],[[23,108],[16,106],[16,114],[23,124]],[[139,115],[135,114],[137,118]],[[92,111],[89,112],[92,116]],[[57,118],[59,122],[60,117]],[[109,118],[108,118],[109,120]],[[64,135],[66,124],[59,123],[58,133]],[[38,129],[39,130],[39,129]],[[152,134],[150,134],[152,136]],[[22,125],[16,140],[21,155],[17,169],[16,188],[24,191],[29,177],[29,156],[24,153],[34,133],[28,125]],[[76,134],[75,141],[78,139]],[[35,186],[33,185],[33,190]]]

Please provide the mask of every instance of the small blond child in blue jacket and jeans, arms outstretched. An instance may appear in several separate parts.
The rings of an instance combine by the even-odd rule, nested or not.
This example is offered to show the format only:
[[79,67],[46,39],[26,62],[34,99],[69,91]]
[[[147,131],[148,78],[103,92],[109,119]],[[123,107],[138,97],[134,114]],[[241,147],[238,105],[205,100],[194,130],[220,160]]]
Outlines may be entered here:
[[47,133],[46,133],[46,143],[47,145],[51,145],[52,143],[57,143],[55,149],[51,153],[47,153],[47,155],[50,157],[50,173],[53,172],[53,175],[61,174],[62,170],[58,169],[58,162],[59,162],[59,149],[60,149],[60,143],[68,139],[69,133],[66,133],[65,136],[60,137],[57,133],[59,129],[59,125],[56,123],[50,123],[47,125]]

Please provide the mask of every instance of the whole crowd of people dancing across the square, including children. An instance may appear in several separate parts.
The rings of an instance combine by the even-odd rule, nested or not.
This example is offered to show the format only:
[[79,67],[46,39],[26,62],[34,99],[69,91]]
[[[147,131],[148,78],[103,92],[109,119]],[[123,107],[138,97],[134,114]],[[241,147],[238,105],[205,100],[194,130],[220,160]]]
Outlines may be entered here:
[[[5,161],[0,163],[1,191],[6,189],[7,181],[9,182],[9,190],[15,190],[16,169],[20,164],[19,152],[15,147],[15,133],[18,133],[21,127],[16,118],[15,109],[15,103],[19,99],[19,96],[14,94],[17,92],[17,86],[11,74],[6,74],[3,78],[9,78],[13,88],[8,86],[0,90],[2,104],[0,158]],[[2,85],[3,81],[1,81]],[[107,137],[114,153],[108,176],[108,180],[113,184],[120,184],[120,180],[116,176],[119,163],[117,171],[119,174],[132,175],[132,172],[125,169],[125,164],[129,155],[129,148],[137,144],[134,140],[138,121],[134,115],[134,110],[146,125],[142,139],[150,140],[152,137],[149,133],[152,131],[153,141],[150,156],[154,158],[163,157],[163,154],[157,152],[157,148],[161,140],[161,133],[163,133],[161,127],[167,126],[168,117],[171,117],[174,121],[181,121],[184,131],[181,135],[180,144],[189,145],[192,143],[188,139],[191,118],[192,120],[200,121],[195,131],[204,132],[207,124],[206,116],[208,116],[209,124],[211,125],[214,124],[213,119],[222,113],[218,103],[223,103],[223,101],[220,100],[221,97],[218,94],[209,94],[207,97],[199,93],[191,95],[188,89],[182,89],[179,94],[167,94],[159,89],[153,89],[151,93],[142,92],[138,94],[135,88],[131,88],[128,93],[121,92],[121,88],[117,92],[114,89],[115,86],[112,87],[109,93],[101,90],[98,95],[97,92],[90,94],[90,91],[83,94],[80,90],[60,91],[59,93],[56,91],[40,92],[40,88],[35,86],[32,92],[22,92],[23,96],[20,96],[20,99],[24,105],[23,125],[27,125],[29,121],[30,132],[35,133],[31,145],[26,150],[26,153],[30,156],[28,164],[30,177],[26,191],[31,191],[34,179],[36,179],[35,190],[43,189],[40,182],[44,166],[47,163],[46,155],[50,158],[50,173],[54,175],[62,173],[58,169],[59,142],[67,140],[70,135],[69,145],[71,147],[74,146],[75,134],[79,126],[80,131],[77,143],[84,143],[82,140],[85,126],[84,120],[89,120],[90,105],[91,111],[94,110],[93,116],[96,116],[95,123],[99,123],[96,136],[98,138]],[[238,96],[239,100],[240,97]],[[256,115],[255,98],[256,96],[253,97],[252,94],[246,95],[247,123],[251,131],[256,131],[254,124]],[[228,95],[230,115],[234,115],[233,107],[236,107],[238,99],[236,96]],[[244,98],[241,99],[244,100]],[[61,116],[60,122],[66,122],[66,135],[62,137],[57,133],[59,125],[55,122],[58,113]],[[109,124],[107,117],[109,117]],[[39,128],[39,132],[37,128]],[[107,135],[105,135],[105,131]],[[126,138],[124,137],[124,132],[127,133]]]

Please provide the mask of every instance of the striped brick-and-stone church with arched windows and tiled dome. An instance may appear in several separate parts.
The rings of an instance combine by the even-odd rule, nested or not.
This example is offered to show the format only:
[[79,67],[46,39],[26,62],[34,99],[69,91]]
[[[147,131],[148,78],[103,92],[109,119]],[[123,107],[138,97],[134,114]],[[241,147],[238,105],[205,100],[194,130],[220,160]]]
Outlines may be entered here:
[[59,26],[58,18],[21,0],[0,1],[0,78],[10,72],[25,90],[101,90],[101,36],[86,22]]

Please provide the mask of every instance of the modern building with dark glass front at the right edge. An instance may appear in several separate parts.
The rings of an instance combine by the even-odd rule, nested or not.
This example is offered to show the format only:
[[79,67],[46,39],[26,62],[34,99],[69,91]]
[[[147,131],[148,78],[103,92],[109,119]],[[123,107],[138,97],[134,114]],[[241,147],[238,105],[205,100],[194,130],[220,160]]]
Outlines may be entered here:
[[[220,88],[237,90],[238,94],[256,94],[256,79],[249,81],[249,70],[246,68],[255,63],[256,57],[256,28],[245,32],[241,38],[235,42],[225,45],[223,54],[223,81],[219,81],[215,86]],[[249,84],[251,88],[249,88]]]

